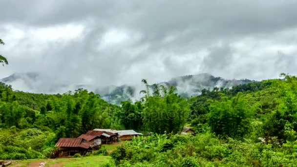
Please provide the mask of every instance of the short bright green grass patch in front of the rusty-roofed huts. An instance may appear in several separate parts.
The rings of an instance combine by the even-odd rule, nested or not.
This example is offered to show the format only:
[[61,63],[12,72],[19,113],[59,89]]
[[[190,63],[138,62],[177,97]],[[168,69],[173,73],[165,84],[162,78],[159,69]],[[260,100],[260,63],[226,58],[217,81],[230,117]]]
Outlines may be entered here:
[[105,162],[109,162],[109,156],[89,156],[81,158],[58,158],[46,163],[46,167],[54,164],[63,164],[63,167],[98,167]]

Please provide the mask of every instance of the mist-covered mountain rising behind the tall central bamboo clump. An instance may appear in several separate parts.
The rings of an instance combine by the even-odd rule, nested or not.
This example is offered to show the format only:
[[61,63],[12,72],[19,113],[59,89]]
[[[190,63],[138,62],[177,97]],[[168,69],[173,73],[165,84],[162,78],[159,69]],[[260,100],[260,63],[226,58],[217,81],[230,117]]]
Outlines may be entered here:
[[[175,86],[177,88],[177,93],[185,98],[197,96],[201,93],[203,89],[212,90],[214,87],[229,87],[239,85],[239,84],[248,84],[255,82],[252,80],[226,80],[221,77],[214,77],[210,74],[198,74],[198,75],[187,75],[172,78],[168,82],[158,83],[158,85],[164,85],[166,87]],[[150,86],[152,89],[152,86]],[[108,89],[109,91],[106,91]],[[105,90],[105,92],[104,92]],[[104,90],[96,90],[96,93],[101,94],[101,97],[109,103],[120,104],[121,101],[131,99],[139,99],[140,90],[136,89],[130,85],[122,86],[113,86],[106,87]]]

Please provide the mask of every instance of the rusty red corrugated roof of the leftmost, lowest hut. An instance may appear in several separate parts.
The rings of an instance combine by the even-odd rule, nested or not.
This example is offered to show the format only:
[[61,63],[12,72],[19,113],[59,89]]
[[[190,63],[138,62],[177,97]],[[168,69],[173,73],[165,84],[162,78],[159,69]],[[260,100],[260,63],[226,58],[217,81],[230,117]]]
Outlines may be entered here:
[[55,146],[89,148],[92,145],[91,142],[82,142],[82,140],[82,138],[60,138]]

